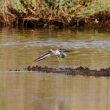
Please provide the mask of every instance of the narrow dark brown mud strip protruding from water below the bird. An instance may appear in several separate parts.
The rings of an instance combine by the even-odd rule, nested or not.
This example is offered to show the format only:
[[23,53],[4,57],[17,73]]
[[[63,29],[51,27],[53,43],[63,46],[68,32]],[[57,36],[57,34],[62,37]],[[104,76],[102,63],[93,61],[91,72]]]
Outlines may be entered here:
[[[38,71],[43,73],[55,73],[55,74],[65,74],[65,75],[82,75],[82,76],[110,76],[110,68],[100,69],[100,70],[91,70],[87,67],[77,67],[77,68],[50,68],[50,67],[41,67],[41,66],[28,66],[25,68],[26,71]],[[11,71],[11,70],[10,70]],[[20,71],[20,70],[15,70]]]

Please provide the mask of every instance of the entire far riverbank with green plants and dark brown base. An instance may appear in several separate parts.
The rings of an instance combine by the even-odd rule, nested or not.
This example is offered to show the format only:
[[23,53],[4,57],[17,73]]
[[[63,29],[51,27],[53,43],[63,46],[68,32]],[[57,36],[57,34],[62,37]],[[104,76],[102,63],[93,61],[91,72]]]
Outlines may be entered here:
[[110,1],[1,0],[0,26],[110,31]]

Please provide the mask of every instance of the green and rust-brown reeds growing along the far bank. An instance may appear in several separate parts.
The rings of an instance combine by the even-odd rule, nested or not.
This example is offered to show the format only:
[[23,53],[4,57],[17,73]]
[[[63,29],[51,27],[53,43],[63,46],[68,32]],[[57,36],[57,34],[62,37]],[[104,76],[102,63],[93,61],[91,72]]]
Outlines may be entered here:
[[[79,26],[81,20],[87,23],[91,16],[110,11],[109,0],[0,0],[0,4],[0,22],[15,26],[39,21],[43,25]],[[100,22],[99,17],[92,22]]]

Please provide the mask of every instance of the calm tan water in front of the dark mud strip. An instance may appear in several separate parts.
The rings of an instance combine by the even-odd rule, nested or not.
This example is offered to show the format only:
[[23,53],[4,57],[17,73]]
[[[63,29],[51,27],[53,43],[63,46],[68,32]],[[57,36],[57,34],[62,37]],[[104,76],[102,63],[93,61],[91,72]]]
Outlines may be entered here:
[[2,110],[109,110],[110,80],[42,73],[0,73]]

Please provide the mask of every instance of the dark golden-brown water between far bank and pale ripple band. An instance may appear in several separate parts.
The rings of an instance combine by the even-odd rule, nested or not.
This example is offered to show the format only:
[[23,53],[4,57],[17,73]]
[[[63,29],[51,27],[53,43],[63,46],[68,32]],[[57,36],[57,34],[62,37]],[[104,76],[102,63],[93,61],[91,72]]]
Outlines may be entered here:
[[99,33],[94,30],[49,30],[49,29],[0,29],[0,41],[110,41],[109,33]]

